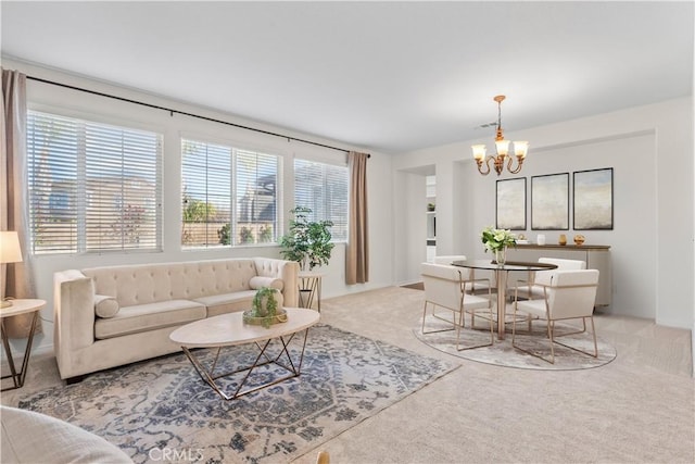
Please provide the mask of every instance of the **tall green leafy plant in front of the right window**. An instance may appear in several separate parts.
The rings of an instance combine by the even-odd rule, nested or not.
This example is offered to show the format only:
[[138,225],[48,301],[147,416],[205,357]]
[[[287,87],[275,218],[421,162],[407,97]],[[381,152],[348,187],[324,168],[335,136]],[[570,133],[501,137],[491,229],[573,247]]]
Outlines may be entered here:
[[290,221],[290,230],[279,239],[283,250],[280,254],[286,260],[296,261],[302,269],[311,271],[316,266],[328,264],[333,243],[331,243],[331,221],[308,221],[312,210],[296,206],[290,213],[294,218]]

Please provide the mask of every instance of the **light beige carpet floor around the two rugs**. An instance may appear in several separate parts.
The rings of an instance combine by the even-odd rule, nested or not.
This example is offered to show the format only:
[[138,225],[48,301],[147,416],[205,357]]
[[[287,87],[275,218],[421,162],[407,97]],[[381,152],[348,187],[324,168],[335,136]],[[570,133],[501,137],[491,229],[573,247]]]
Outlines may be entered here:
[[[413,334],[424,293],[389,287],[324,300],[321,321],[460,367],[293,461],[318,450],[346,463],[693,463],[695,381],[688,330],[598,315],[619,353],[584,371],[515,369],[451,356]],[[59,383],[54,360],[33,359],[21,390]]]

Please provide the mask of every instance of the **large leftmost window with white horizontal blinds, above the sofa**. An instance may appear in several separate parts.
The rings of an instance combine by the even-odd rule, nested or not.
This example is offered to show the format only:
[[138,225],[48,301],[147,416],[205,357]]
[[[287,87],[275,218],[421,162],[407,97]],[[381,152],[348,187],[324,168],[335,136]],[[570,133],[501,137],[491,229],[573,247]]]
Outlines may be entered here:
[[161,250],[161,135],[30,111],[27,165],[34,253]]

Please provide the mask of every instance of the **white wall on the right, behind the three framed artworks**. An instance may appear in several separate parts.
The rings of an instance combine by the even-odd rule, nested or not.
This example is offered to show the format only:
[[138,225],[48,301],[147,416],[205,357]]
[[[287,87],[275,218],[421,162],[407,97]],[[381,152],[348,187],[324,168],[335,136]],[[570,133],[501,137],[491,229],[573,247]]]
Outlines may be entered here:
[[[692,99],[508,133],[505,137],[531,142],[529,156],[518,175],[478,174],[470,155],[473,141],[394,156],[394,173],[417,170],[422,163],[437,164],[438,253],[483,258],[479,234],[483,227],[495,224],[497,179],[527,177],[525,233],[533,238],[538,231],[530,229],[531,176],[570,173],[571,186],[574,171],[614,167],[614,229],[581,231],[589,243],[611,246],[614,294],[609,311],[691,329]],[[544,233],[551,242],[560,233],[574,235],[572,229]],[[419,259],[415,250],[403,248],[396,250],[396,255],[406,263]],[[415,277],[406,275],[403,280]]]

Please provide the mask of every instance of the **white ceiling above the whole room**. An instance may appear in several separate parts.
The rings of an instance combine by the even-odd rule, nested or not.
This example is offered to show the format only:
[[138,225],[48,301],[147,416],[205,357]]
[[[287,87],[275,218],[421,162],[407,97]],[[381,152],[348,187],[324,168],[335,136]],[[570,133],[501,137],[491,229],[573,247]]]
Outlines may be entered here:
[[693,1],[0,9],[5,58],[386,153],[693,93]]

